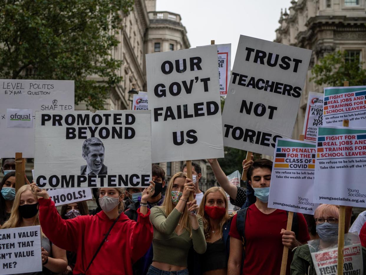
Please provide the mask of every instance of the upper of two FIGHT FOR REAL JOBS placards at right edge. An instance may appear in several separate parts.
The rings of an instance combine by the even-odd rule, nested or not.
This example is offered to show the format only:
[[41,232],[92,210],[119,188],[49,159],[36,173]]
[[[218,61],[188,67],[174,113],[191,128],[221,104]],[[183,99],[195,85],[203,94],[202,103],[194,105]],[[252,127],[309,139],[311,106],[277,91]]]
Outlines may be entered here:
[[324,88],[324,125],[366,127],[366,86]]

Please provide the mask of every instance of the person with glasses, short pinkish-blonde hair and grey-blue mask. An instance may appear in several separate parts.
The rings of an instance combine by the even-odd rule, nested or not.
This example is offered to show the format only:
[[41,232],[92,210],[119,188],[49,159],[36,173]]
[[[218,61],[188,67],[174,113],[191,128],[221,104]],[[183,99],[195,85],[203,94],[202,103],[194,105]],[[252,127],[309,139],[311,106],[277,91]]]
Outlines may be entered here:
[[[316,221],[317,234],[321,239],[320,246],[325,246],[324,241],[338,236],[339,206],[321,204],[315,209],[314,218]],[[362,247],[362,259],[363,275],[366,275],[366,249],[364,247]],[[296,247],[294,250],[294,258],[291,263],[291,275],[304,274],[316,275],[309,245],[307,244]]]

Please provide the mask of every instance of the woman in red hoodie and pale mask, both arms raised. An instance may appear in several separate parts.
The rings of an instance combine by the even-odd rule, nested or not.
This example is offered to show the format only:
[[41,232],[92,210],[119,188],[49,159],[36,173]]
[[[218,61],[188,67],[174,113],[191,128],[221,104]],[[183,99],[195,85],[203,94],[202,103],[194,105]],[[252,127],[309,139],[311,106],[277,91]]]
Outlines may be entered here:
[[39,219],[44,234],[60,248],[77,253],[73,274],[133,274],[132,264],[147,252],[153,239],[150,210],[146,207],[154,194],[154,183],[150,183],[142,193],[137,222],[123,213],[124,188],[100,188],[103,211],[63,220],[47,191],[31,184],[33,193],[41,197]]

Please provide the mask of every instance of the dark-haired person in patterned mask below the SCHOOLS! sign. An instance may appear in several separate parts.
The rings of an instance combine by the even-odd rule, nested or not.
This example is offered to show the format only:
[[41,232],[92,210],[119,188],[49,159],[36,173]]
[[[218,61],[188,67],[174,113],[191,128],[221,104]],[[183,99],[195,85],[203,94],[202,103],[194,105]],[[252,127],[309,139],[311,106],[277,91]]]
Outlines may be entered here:
[[[86,201],[74,202],[63,205],[60,211],[61,218],[64,220],[74,219],[78,216],[89,214],[88,205]],[[76,263],[76,252],[66,251],[67,256],[67,270],[64,274],[71,274]]]

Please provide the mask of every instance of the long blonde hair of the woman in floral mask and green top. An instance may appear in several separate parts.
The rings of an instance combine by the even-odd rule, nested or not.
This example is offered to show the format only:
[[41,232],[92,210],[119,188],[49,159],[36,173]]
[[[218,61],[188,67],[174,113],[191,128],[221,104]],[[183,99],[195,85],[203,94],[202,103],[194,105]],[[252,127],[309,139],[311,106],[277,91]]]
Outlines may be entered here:
[[[167,191],[165,192],[165,198],[164,198],[164,202],[161,206],[158,206],[160,208],[162,208],[165,211],[165,215],[168,217],[169,214],[173,211],[173,209],[175,208],[175,205],[172,202],[172,195],[171,195],[171,191],[173,188],[173,183],[174,180],[178,177],[182,177],[184,179],[187,178],[187,173],[183,173],[183,172],[178,172],[175,173],[172,178],[169,180],[169,184],[168,184],[168,188]],[[188,213],[187,213],[187,205],[184,206],[183,209],[183,214],[182,214],[182,222],[180,224],[183,225],[183,228],[185,230],[188,230],[188,232],[191,234],[192,230],[191,230],[191,223],[188,219]]]

